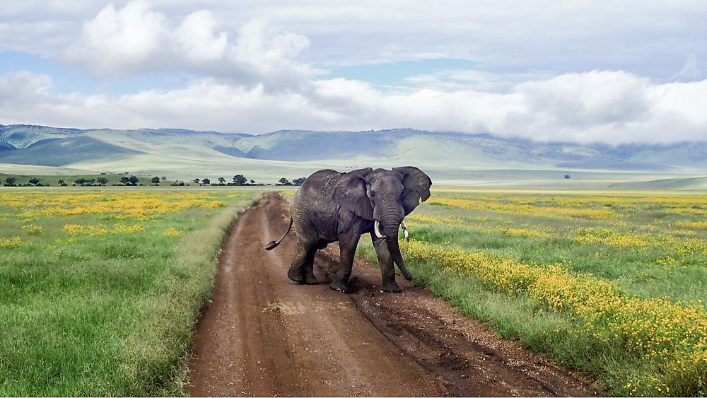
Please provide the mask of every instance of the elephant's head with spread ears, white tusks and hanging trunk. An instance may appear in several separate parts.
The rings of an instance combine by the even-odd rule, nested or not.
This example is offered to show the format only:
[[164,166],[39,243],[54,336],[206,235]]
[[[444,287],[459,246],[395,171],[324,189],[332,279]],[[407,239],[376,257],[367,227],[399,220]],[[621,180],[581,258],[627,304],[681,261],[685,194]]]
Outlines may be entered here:
[[398,229],[420,200],[430,197],[431,185],[430,177],[416,167],[366,168],[342,175],[334,186],[332,199],[342,208],[374,222],[375,235],[385,237],[395,263],[411,279],[400,254]]

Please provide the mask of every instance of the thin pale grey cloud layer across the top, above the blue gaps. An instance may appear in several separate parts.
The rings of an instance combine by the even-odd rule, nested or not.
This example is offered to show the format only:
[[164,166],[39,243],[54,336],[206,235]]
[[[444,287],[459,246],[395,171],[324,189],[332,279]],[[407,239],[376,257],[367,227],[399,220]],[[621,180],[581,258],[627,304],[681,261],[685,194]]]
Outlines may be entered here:
[[[117,13],[130,5],[115,4]],[[621,69],[665,81],[688,54],[707,55],[706,4],[699,0],[151,0],[151,5],[172,30],[189,13],[208,9],[218,16],[218,33],[232,39],[248,21],[267,17],[309,37],[311,46],[300,53],[308,64],[462,57],[491,72]],[[102,8],[105,0],[5,1],[0,50],[57,55]]]

